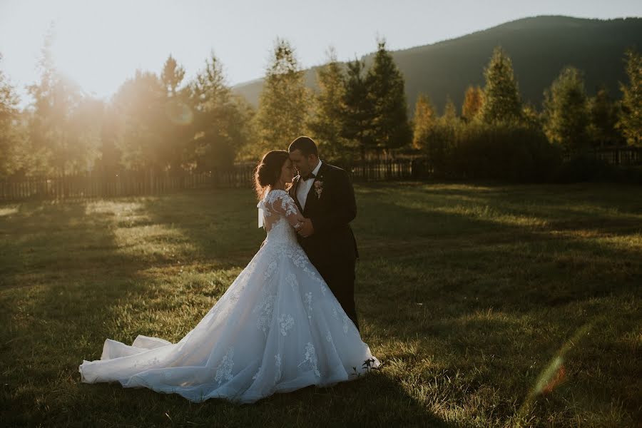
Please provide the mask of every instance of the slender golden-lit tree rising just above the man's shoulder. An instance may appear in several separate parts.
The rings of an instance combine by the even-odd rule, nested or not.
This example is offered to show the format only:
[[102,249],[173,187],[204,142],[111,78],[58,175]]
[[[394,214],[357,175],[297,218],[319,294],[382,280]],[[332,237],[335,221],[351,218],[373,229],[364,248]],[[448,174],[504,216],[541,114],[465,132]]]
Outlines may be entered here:
[[342,136],[345,76],[335,50],[330,48],[327,56],[327,63],[317,68],[319,91],[315,94],[314,109],[307,126],[317,141],[322,156],[332,160],[345,160],[352,155],[348,141]]

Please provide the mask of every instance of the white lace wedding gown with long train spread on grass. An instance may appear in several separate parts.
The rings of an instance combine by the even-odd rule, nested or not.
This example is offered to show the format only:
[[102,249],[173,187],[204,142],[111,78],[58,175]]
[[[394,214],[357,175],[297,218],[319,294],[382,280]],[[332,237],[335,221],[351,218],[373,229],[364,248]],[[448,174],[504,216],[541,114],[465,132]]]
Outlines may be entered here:
[[257,206],[265,243],[203,320],[175,344],[143,335],[131,346],[107,339],[101,360],[78,367],[82,382],[251,403],[379,367],[297,243],[290,195],[271,190]]

